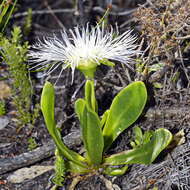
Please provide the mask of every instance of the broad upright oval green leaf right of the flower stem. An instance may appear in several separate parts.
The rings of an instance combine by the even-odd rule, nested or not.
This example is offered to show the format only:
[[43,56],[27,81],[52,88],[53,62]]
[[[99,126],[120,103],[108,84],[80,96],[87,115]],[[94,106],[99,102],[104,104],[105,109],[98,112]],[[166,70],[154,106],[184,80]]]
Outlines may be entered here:
[[134,123],[146,104],[147,92],[143,82],[133,82],[114,98],[103,129],[105,150],[118,135]]

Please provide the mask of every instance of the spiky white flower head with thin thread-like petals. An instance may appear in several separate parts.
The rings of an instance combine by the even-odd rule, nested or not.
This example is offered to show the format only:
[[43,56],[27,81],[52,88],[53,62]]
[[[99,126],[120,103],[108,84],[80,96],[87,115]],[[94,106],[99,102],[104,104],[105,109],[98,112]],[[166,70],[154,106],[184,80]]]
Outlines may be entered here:
[[32,46],[30,64],[35,65],[31,69],[47,69],[45,75],[49,75],[62,66],[60,76],[64,69],[71,67],[73,78],[75,68],[88,70],[101,63],[106,64],[108,60],[128,64],[131,57],[138,53],[134,44],[136,37],[131,35],[131,31],[117,35],[113,29],[105,31],[104,27],[87,26],[81,30],[76,27],[69,32],[70,36],[62,31],[61,39],[54,35]]

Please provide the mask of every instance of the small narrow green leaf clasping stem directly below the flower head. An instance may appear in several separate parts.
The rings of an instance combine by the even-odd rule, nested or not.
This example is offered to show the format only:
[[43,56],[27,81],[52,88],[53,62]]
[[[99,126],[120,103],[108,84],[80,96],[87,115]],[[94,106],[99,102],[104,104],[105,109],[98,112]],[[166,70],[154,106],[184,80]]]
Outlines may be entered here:
[[97,112],[98,104],[94,92],[94,81],[87,80],[85,84],[85,100],[88,103],[89,107]]

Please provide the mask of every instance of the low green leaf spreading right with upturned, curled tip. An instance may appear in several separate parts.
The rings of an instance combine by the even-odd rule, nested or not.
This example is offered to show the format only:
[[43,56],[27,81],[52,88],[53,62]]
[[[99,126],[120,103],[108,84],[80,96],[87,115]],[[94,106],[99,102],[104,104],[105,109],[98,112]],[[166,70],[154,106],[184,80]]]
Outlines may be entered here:
[[167,129],[157,129],[148,143],[105,158],[104,163],[106,165],[151,164],[171,140],[172,134]]

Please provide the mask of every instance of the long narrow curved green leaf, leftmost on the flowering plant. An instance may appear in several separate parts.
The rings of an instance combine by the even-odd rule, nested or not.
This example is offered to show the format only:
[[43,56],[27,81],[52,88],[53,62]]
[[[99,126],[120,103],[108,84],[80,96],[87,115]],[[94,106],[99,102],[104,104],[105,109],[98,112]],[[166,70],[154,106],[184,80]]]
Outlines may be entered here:
[[68,160],[75,162],[76,164],[83,166],[82,161],[85,161],[85,158],[83,158],[76,152],[68,149],[61,140],[61,135],[59,130],[56,128],[56,123],[54,119],[54,103],[54,87],[50,82],[46,82],[41,96],[41,110],[44,116],[48,132],[50,133],[57,148],[63,154],[64,157],[66,157]]

